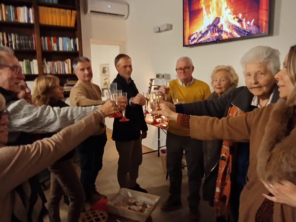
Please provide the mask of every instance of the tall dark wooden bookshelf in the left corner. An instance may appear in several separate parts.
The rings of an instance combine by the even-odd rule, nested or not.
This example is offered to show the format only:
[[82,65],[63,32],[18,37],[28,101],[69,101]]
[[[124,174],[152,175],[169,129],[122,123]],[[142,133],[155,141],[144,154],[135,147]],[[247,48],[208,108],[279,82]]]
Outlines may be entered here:
[[[44,75],[43,73],[43,59],[46,61],[64,61],[66,59],[73,60],[82,56],[82,34],[81,34],[81,17],[80,17],[80,0],[58,0],[58,4],[39,2],[40,0],[0,0],[5,5],[12,5],[15,7],[26,6],[33,8],[34,23],[22,23],[22,22],[11,22],[11,21],[0,21],[0,32],[6,33],[17,33],[23,36],[36,37],[36,49],[15,49],[15,56],[21,61],[24,59],[37,59],[38,73],[39,75],[26,74],[26,80],[34,80],[36,77]],[[57,26],[57,25],[44,25],[39,22],[39,11],[38,6],[61,8],[76,10],[76,21],[74,27]],[[68,37],[78,38],[79,51],[54,51],[54,50],[43,50],[41,47],[41,37],[52,36],[52,37]],[[72,64],[71,64],[72,66]],[[73,69],[72,69],[73,72]],[[53,74],[60,78],[61,84],[66,81],[69,77],[75,77],[74,74]]]

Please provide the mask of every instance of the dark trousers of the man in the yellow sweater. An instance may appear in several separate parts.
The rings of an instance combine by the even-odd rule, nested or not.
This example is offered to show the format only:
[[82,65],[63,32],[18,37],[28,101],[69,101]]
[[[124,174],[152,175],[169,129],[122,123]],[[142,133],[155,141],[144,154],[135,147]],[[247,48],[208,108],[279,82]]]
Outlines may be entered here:
[[202,141],[190,136],[178,136],[167,133],[167,169],[170,176],[170,197],[173,202],[181,201],[182,157],[185,158],[188,170],[189,196],[187,197],[190,210],[197,210],[200,203],[200,185],[202,181]]

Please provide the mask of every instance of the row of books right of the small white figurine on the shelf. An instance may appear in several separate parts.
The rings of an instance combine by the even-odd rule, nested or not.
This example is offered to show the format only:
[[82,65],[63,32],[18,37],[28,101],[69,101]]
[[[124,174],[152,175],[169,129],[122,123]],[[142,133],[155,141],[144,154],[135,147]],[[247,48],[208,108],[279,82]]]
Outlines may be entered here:
[[71,59],[65,61],[47,61],[44,74],[72,74]]

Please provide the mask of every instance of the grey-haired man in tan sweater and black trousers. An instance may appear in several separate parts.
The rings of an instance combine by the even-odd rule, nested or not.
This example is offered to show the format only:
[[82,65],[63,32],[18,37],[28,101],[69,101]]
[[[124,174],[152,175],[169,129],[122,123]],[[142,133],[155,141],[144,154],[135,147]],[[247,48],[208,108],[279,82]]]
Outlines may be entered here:
[[[71,89],[70,105],[73,107],[103,104],[102,92],[99,86],[91,83],[93,77],[90,60],[78,57],[73,61],[73,70],[78,82]],[[81,184],[83,186],[86,202],[90,205],[107,197],[96,191],[95,181],[102,169],[104,147],[107,142],[106,131],[101,135],[90,136],[78,146],[81,162]]]

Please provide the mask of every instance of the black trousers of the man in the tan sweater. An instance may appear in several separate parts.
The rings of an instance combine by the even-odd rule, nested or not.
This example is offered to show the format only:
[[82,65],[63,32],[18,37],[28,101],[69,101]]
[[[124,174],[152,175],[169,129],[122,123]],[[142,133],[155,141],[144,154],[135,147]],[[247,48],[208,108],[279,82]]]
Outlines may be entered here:
[[86,200],[96,189],[96,177],[103,166],[104,147],[107,142],[107,134],[90,136],[78,146],[81,164],[80,181],[83,186]]

